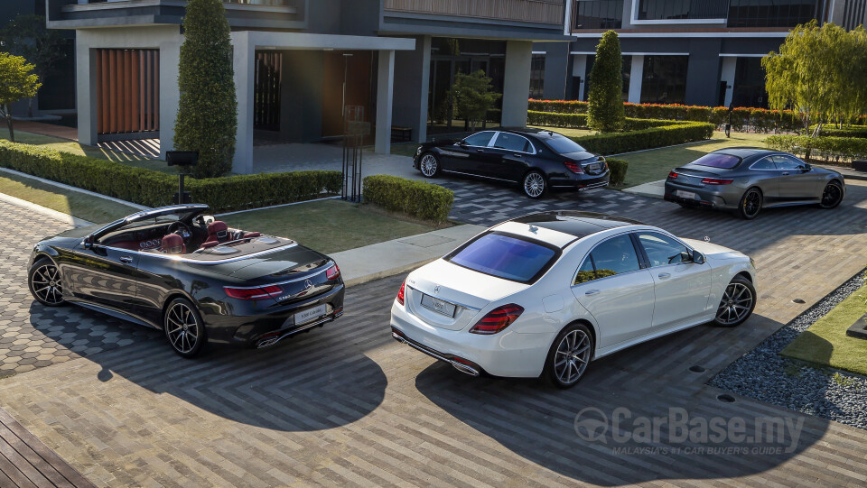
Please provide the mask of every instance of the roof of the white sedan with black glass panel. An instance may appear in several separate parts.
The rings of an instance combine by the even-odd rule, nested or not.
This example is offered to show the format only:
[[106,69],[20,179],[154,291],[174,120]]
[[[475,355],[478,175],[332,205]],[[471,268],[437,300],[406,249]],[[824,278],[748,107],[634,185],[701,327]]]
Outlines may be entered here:
[[593,212],[560,210],[518,217],[494,226],[494,230],[538,239],[558,247],[604,230],[624,226],[643,226],[641,222]]

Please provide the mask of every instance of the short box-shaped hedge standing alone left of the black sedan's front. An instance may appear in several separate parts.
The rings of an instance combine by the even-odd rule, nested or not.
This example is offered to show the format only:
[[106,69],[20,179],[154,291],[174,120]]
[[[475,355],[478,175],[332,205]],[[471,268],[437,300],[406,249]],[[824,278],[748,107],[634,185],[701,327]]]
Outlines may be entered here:
[[452,211],[454,192],[433,183],[378,174],[364,179],[364,201],[393,212],[443,223]]

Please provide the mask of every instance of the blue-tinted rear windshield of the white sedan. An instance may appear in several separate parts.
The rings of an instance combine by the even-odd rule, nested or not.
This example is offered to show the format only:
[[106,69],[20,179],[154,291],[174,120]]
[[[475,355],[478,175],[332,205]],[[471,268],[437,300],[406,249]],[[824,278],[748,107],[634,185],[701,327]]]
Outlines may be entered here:
[[465,244],[448,261],[511,281],[536,281],[559,255],[559,249],[515,235],[492,232]]

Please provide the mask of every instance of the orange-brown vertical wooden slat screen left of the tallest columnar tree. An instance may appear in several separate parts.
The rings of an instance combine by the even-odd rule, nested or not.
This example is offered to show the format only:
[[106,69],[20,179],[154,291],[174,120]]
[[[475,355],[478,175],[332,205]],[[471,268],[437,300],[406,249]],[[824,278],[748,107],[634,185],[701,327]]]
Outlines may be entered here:
[[160,130],[160,51],[98,49],[97,132]]

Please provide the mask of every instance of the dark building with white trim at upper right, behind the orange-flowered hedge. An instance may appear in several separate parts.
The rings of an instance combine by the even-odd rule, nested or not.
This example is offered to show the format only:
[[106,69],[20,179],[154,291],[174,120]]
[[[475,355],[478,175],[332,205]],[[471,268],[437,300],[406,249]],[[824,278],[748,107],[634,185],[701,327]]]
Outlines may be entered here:
[[[613,29],[623,52],[624,101],[767,106],[761,57],[800,23],[861,25],[867,0],[570,0],[566,15],[569,49],[534,50],[544,56],[545,98],[586,99],[596,44]],[[564,61],[565,77],[547,68]]]

